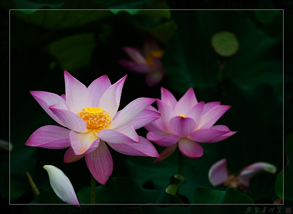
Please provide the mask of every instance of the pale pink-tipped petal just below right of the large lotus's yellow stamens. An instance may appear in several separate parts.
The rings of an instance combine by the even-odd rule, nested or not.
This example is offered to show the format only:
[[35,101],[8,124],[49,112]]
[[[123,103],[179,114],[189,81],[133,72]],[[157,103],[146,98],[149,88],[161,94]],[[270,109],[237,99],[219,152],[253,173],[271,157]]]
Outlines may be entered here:
[[[132,128],[132,127],[131,127]],[[132,128],[133,129],[133,128]],[[134,130],[134,129],[133,129]],[[122,131],[123,133],[121,133]],[[139,142],[138,135],[132,132],[130,127],[127,127],[126,130],[114,130],[114,129],[102,129],[97,133],[98,137],[107,143],[137,143]],[[127,136],[130,135],[130,136]],[[134,138],[134,140],[132,139]]]

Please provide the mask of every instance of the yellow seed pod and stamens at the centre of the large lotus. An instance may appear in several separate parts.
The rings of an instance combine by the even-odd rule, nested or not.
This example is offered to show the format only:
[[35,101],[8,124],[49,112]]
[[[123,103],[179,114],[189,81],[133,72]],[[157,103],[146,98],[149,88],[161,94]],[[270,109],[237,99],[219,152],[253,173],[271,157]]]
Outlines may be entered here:
[[82,109],[77,115],[86,122],[86,126],[89,129],[98,129],[96,132],[101,129],[106,129],[112,124],[112,118],[109,112],[101,108],[88,107]]

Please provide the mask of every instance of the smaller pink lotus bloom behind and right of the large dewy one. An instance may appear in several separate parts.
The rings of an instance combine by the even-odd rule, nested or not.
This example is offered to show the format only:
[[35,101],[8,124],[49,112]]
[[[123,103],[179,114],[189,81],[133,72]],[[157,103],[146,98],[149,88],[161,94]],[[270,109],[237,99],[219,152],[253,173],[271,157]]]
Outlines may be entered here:
[[197,102],[192,88],[179,101],[161,88],[161,100],[156,99],[156,102],[158,110],[151,106],[149,109],[159,112],[161,117],[144,128],[149,131],[148,140],[167,148],[154,162],[170,156],[177,145],[186,157],[201,157],[203,148],[198,142],[216,143],[236,133],[224,125],[214,126],[231,106],[220,105],[220,102]]

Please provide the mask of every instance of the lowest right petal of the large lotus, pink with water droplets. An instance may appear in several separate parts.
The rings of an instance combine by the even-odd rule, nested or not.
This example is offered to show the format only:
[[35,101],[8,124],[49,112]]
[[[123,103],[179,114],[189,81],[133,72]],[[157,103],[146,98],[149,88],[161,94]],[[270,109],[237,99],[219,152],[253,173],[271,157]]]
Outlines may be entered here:
[[160,157],[155,147],[147,139],[139,136],[139,143],[108,143],[114,150],[124,155]]

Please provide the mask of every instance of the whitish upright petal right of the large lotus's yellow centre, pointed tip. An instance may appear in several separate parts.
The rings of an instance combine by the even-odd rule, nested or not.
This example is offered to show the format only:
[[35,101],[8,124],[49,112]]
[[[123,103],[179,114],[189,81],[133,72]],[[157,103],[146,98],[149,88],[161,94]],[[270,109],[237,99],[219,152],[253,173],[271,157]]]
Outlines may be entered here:
[[124,84],[125,75],[123,78],[118,80],[116,83],[111,85],[103,94],[99,102],[99,108],[104,109],[105,111],[109,112],[111,118],[113,118],[118,110],[122,86]]

